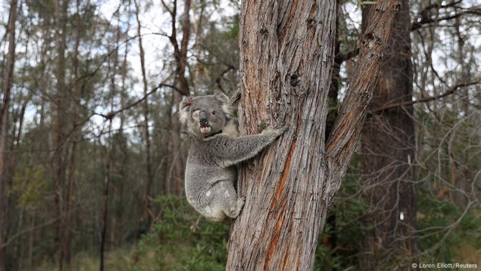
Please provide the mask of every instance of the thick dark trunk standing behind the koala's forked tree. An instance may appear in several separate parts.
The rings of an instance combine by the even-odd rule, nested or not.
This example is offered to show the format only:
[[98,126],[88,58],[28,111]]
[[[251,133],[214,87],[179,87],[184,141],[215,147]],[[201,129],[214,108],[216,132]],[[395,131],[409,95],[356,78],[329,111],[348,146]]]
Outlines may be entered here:
[[[367,10],[363,10],[366,23]],[[401,0],[370,109],[412,100],[409,2]],[[362,242],[361,270],[394,268],[393,257],[414,255],[416,204],[412,179],[414,122],[412,106],[373,111],[361,133],[364,197],[370,203]],[[391,255],[391,256],[389,256]],[[406,268],[405,266],[401,268]]]

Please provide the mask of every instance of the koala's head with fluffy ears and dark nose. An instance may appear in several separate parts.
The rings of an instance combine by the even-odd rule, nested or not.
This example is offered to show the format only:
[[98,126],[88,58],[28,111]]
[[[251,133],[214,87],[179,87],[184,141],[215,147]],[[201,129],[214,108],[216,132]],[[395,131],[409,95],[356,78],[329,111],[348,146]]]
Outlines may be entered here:
[[232,116],[229,98],[221,91],[215,91],[214,95],[184,97],[179,107],[179,120],[183,124],[187,122],[190,133],[199,138],[219,133]]

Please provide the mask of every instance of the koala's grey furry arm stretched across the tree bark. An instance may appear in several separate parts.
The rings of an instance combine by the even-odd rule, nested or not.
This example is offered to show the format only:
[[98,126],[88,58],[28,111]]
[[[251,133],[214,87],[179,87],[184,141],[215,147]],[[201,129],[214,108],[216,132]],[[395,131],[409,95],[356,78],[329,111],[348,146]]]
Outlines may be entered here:
[[223,166],[232,166],[253,158],[284,131],[285,128],[269,129],[258,135],[243,135],[238,138],[219,135],[212,142],[212,151],[223,162]]

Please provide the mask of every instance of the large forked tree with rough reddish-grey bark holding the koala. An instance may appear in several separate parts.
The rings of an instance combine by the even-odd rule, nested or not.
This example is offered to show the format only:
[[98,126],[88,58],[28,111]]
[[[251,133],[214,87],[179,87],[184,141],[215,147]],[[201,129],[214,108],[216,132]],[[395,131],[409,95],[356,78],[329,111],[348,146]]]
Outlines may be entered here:
[[378,1],[361,37],[357,73],[325,142],[335,1],[243,1],[240,130],[289,129],[240,166],[246,197],[227,270],[311,270],[328,205],[355,149],[399,1]]

